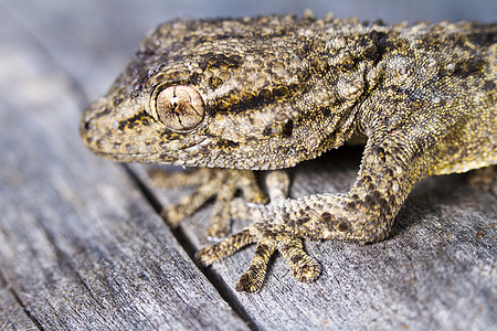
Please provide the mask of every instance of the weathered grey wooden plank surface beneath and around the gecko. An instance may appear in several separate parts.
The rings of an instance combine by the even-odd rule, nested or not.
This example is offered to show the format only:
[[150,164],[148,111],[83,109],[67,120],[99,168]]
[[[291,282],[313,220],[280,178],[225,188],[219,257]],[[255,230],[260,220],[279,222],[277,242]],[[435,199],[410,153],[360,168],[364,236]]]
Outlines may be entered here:
[[[276,256],[260,292],[234,292],[254,247],[198,269],[191,254],[209,243],[211,209],[169,231],[134,177],[161,204],[188,190],[150,188],[146,167],[130,174],[98,159],[77,132],[81,109],[145,31],[184,12],[102,3],[0,4],[0,330],[497,325],[497,201],[465,175],[420,183],[387,241],[306,242],[322,267],[311,285]],[[359,162],[357,148],[305,162],[290,171],[290,194],[345,192]]]

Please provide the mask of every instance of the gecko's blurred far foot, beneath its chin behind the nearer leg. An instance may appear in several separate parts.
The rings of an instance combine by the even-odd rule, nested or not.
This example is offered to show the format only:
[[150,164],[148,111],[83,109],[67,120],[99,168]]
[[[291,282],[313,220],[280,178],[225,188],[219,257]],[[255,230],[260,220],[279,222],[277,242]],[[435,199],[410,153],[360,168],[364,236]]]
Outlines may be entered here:
[[208,228],[212,237],[225,236],[231,218],[230,203],[237,191],[242,191],[246,201],[265,203],[267,199],[257,184],[254,172],[248,170],[199,168],[191,172],[168,173],[154,169],[148,172],[154,184],[161,188],[198,185],[190,195],[176,204],[163,207],[161,216],[170,224],[178,225],[184,217],[193,214],[205,201],[216,196],[214,212]]

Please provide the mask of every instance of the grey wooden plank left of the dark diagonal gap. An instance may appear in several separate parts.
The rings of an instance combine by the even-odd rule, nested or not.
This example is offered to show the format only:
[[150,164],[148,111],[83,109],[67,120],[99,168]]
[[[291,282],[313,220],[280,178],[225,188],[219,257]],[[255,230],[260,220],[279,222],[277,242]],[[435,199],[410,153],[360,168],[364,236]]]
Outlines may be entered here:
[[124,168],[84,148],[67,76],[1,10],[0,43],[0,327],[247,329]]

